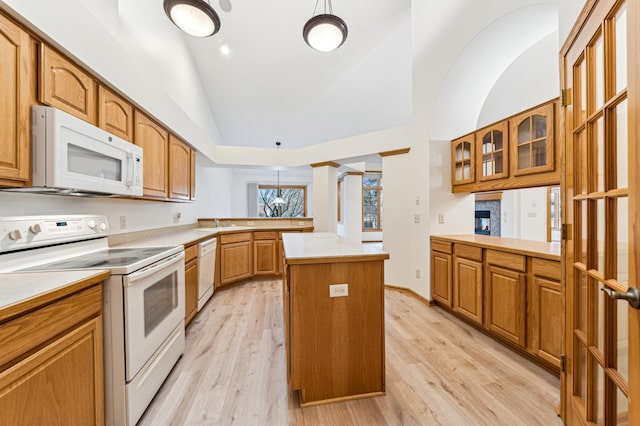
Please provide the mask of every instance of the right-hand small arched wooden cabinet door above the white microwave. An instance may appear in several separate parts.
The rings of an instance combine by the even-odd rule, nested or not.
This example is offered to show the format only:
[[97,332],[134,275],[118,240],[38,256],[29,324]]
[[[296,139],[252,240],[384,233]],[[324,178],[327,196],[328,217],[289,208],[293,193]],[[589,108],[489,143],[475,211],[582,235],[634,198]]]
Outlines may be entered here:
[[98,127],[133,142],[133,105],[104,86],[98,88]]

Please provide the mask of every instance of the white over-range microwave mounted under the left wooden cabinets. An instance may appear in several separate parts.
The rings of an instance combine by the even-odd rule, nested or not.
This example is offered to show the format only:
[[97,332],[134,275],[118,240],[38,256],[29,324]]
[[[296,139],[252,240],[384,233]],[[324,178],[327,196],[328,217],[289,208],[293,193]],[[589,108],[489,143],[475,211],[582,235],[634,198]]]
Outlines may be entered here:
[[64,111],[31,107],[31,188],[69,195],[142,195],[142,148]]

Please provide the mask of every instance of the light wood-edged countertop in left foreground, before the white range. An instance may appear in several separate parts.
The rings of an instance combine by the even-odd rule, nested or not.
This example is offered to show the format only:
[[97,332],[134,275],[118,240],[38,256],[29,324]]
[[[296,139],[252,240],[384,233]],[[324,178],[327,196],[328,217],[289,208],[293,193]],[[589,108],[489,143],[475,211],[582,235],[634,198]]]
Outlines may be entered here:
[[[47,272],[10,272],[0,274],[0,318],[5,310],[43,298],[42,303],[71,294],[103,281],[109,271],[72,270]],[[11,308],[11,309],[9,309]]]

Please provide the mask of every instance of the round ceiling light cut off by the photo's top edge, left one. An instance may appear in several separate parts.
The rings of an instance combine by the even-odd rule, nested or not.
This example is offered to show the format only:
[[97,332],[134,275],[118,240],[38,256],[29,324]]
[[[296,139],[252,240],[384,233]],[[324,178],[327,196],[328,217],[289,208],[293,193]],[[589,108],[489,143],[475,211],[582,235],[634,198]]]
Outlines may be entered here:
[[171,22],[194,37],[209,37],[220,30],[220,18],[205,0],[164,0]]

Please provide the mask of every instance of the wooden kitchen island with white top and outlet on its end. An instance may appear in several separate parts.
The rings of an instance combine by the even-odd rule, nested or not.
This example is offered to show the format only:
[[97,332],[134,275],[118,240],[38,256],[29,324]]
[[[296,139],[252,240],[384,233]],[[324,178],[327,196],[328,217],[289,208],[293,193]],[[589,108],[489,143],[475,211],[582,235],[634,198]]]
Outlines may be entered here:
[[384,395],[384,260],[331,233],[283,234],[287,379],[300,405]]

